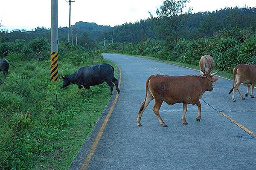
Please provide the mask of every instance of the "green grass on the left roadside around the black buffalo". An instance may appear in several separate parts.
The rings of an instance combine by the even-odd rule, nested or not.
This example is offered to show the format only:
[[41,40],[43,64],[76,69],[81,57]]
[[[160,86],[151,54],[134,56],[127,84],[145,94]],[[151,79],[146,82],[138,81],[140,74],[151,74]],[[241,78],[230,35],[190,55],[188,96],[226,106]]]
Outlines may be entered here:
[[[60,56],[59,74],[91,65],[88,55],[73,54]],[[67,170],[108,103],[108,85],[61,89],[61,79],[49,81],[49,61],[20,60],[19,54],[6,59],[17,69],[11,66],[7,78],[0,73],[0,169]],[[111,63],[96,61],[104,62]]]

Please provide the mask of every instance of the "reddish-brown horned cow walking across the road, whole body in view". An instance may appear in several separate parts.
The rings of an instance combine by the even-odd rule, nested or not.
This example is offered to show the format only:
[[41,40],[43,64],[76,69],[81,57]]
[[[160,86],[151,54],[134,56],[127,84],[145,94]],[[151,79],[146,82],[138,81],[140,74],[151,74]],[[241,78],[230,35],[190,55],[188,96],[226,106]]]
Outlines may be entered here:
[[212,91],[212,81],[218,81],[218,78],[212,78],[217,73],[205,75],[185,75],[185,76],[169,76],[169,75],[151,75],[146,82],[146,96],[143,103],[140,105],[140,110],[137,117],[137,125],[140,124],[141,116],[148,106],[149,102],[155,99],[153,111],[157,116],[160,124],[163,127],[167,125],[163,122],[159,115],[159,109],[165,101],[169,105],[175,103],[183,103],[182,123],[186,122],[186,110],[188,104],[196,104],[198,107],[199,122],[201,119],[201,104],[199,99],[205,91]]

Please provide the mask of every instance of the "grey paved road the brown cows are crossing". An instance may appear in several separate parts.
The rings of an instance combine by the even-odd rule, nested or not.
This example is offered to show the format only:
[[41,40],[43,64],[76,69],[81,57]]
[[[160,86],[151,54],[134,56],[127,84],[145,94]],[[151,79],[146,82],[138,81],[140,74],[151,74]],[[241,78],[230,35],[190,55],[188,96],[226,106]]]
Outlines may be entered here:
[[[174,169],[256,169],[256,139],[248,135],[218,111],[224,112],[256,133],[256,98],[241,100],[238,93],[232,102],[227,93],[233,82],[224,78],[214,83],[213,92],[201,99],[202,118],[195,118],[198,108],[188,105],[183,125],[182,104],[163,103],[160,115],[168,127],[162,127],[152,111],[151,101],[143,113],[142,127],[136,119],[145,98],[145,81],[149,75],[190,75],[198,71],[125,55],[104,54],[122,70],[121,92],[105,130],[87,162],[88,170],[174,170]],[[246,87],[241,86],[243,94]],[[113,101],[113,99],[112,99]],[[105,119],[103,114],[85,141],[70,169],[79,169]]]

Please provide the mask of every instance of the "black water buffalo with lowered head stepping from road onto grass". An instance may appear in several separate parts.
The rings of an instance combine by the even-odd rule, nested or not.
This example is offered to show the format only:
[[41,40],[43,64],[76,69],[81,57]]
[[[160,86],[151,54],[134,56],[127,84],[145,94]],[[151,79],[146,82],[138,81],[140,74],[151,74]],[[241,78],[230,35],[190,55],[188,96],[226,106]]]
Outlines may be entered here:
[[117,79],[114,77],[114,72],[113,66],[107,63],[81,67],[72,75],[61,75],[63,79],[62,88],[70,84],[77,84],[79,89],[90,89],[90,86],[99,85],[105,81],[110,87],[110,95],[113,92],[113,83],[116,86],[116,91],[119,93],[120,89],[118,88]]

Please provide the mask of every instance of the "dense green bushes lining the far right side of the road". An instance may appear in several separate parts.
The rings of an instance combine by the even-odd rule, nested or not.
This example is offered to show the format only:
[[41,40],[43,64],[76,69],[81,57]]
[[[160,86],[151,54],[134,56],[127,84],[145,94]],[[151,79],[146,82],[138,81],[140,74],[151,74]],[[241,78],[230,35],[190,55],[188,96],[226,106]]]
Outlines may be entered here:
[[252,30],[235,27],[221,30],[212,37],[185,40],[177,44],[149,38],[139,43],[113,43],[104,52],[147,55],[169,61],[198,65],[201,56],[212,55],[215,68],[231,72],[240,63],[256,63],[256,34]]

